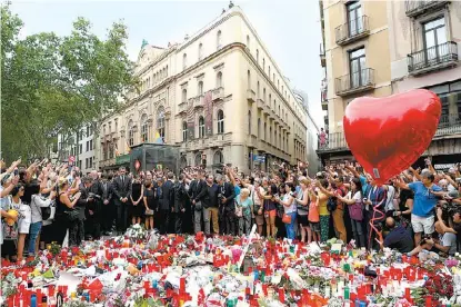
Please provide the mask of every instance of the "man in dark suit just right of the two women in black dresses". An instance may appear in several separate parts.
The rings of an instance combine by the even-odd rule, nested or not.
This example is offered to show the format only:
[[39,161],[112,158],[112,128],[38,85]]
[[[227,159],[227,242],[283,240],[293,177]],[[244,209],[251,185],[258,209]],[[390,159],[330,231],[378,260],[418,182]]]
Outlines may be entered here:
[[174,175],[170,171],[168,172],[167,178],[167,181],[160,187],[161,195],[159,197],[159,230],[161,235],[168,232],[171,212],[174,210]]

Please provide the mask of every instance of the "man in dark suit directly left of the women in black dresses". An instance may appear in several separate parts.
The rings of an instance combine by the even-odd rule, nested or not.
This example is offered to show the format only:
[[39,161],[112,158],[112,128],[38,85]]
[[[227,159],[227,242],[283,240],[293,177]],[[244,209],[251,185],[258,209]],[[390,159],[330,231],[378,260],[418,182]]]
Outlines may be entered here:
[[113,180],[112,191],[114,195],[113,204],[117,207],[117,231],[127,230],[128,222],[128,199],[131,196],[131,178],[127,176],[127,169],[120,167],[119,177]]

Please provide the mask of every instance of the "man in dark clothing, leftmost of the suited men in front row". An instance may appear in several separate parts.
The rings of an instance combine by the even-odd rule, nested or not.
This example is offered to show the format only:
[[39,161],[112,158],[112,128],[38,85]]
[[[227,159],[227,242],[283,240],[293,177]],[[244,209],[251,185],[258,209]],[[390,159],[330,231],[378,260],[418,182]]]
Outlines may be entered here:
[[93,184],[88,188],[88,192],[92,201],[86,208],[87,219],[84,222],[84,234],[88,240],[101,237],[102,197],[104,195],[104,188],[97,170],[90,172],[90,178]]

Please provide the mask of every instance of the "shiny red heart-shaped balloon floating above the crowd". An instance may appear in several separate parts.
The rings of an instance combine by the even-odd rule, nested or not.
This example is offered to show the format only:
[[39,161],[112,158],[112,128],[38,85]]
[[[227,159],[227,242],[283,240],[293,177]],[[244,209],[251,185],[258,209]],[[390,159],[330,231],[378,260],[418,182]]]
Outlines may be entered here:
[[440,113],[440,99],[429,90],[360,97],[345,108],[345,140],[360,165],[382,185],[421,157],[435,133]]

